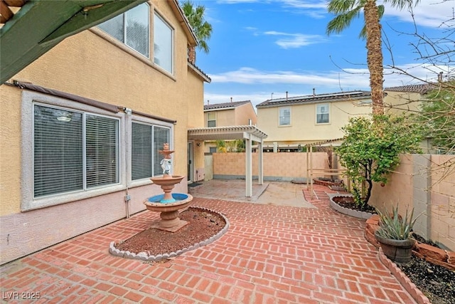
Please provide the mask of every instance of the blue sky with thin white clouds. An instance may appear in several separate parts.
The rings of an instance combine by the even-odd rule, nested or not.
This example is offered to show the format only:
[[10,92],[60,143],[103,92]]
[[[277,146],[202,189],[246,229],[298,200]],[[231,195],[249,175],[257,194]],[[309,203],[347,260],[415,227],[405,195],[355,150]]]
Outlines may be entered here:
[[[285,98],[286,92],[289,97],[310,95],[313,88],[316,94],[369,90],[365,41],[358,38],[363,15],[346,31],[327,36],[326,25],[333,16],[326,11],[326,0],[193,0],[193,4],[205,6],[205,19],[213,26],[210,53],[198,51],[196,58],[196,65],[212,79],[205,84],[205,104],[207,100],[228,103],[232,98],[257,105]],[[421,0],[413,9],[419,33],[444,36],[441,23],[451,19],[454,26],[454,7],[455,0]],[[410,11],[386,5],[382,28],[392,50],[391,56],[383,43],[385,66],[393,62],[424,80],[454,69],[418,60],[411,45],[417,38],[407,34],[415,31]],[[391,72],[385,70],[385,87],[417,83]]]

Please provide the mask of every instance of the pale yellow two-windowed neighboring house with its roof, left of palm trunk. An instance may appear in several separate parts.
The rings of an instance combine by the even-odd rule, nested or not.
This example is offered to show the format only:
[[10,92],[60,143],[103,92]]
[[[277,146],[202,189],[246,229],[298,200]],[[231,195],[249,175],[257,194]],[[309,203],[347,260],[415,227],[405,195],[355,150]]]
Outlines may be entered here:
[[304,145],[343,137],[350,117],[370,115],[371,93],[352,91],[266,100],[257,127],[267,133],[264,152],[296,152]]

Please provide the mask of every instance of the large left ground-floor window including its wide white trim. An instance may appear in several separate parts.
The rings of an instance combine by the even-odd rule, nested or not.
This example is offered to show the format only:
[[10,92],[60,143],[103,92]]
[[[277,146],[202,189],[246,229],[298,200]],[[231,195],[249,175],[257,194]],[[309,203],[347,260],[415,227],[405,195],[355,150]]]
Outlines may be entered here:
[[122,112],[23,91],[21,211],[125,189],[124,127]]

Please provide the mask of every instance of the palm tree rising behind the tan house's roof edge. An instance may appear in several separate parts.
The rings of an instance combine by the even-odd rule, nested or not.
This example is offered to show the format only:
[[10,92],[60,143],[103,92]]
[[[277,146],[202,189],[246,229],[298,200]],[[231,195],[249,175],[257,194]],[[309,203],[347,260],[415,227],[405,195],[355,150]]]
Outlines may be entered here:
[[[210,48],[208,47],[207,41],[212,36],[212,26],[205,21],[205,6],[198,5],[195,8],[193,2],[187,0],[181,4],[181,7],[186,19],[188,19],[188,22],[193,28],[196,38],[198,38],[198,49],[204,53],[208,53]],[[188,58],[191,63],[196,62],[196,50],[194,47],[188,49]]]

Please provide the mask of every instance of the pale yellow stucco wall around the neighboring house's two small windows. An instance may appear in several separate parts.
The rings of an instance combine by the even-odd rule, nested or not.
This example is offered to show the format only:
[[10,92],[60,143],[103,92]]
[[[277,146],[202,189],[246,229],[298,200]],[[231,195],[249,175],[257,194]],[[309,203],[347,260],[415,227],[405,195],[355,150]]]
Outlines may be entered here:
[[289,105],[291,108],[291,125],[279,126],[279,108],[258,108],[257,127],[268,137],[264,144],[277,142],[279,145],[307,144],[343,137],[341,127],[348,123],[349,117],[368,115],[370,105],[356,105],[356,101],[338,101],[328,103],[330,122],[316,124],[316,105]]

